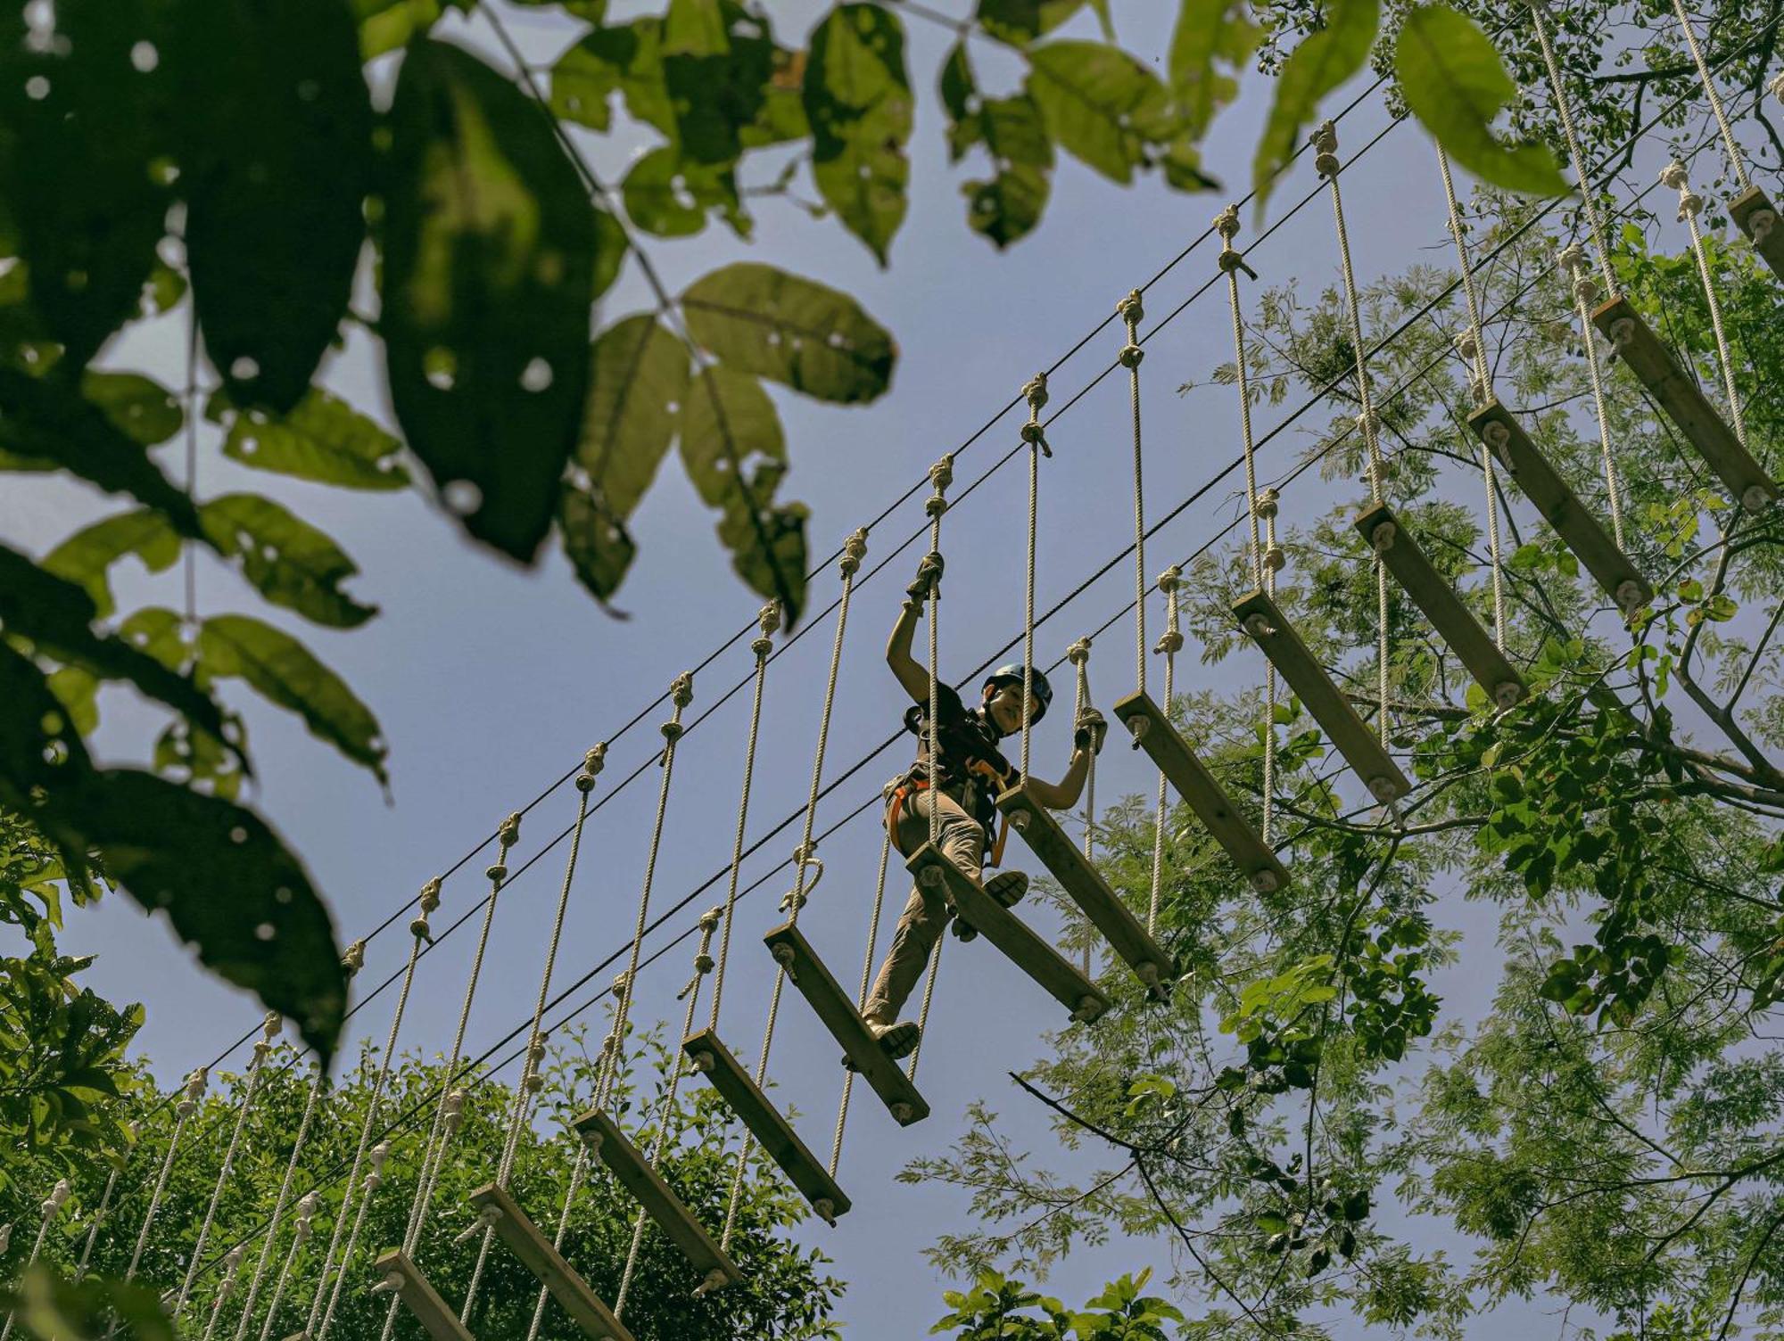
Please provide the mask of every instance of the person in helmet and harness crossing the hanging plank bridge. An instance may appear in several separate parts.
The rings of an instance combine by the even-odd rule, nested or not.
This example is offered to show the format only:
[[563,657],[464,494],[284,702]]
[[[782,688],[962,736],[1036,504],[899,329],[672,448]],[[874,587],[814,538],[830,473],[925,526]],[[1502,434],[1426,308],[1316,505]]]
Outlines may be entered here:
[[[915,701],[904,712],[904,729],[928,742],[929,731],[929,672],[912,656],[917,617],[922,613],[931,583],[942,576],[942,556],[929,555],[917,569],[917,580],[906,587],[906,601],[892,626],[887,642],[887,665],[897,683]],[[987,676],[979,690],[979,706],[967,708],[947,683],[935,685],[940,729],[935,735],[935,777],[929,777],[928,744],[919,749],[908,772],[887,785],[885,824],[892,845],[910,858],[929,842],[929,808],[940,811],[937,847],[942,856],[960,867],[962,874],[979,884],[992,899],[1012,908],[1028,892],[1028,876],[1004,870],[983,879],[987,860],[997,865],[1003,854],[1003,835],[990,842],[992,822],[997,819],[995,799],[1024,781],[997,744],[1022,731],[1022,665],[1003,665]],[[1053,687],[1037,667],[1029,672],[1031,724],[1038,722],[1053,703]],[[1083,792],[1090,772],[1090,756],[1101,753],[1108,722],[1095,708],[1086,708],[1074,724],[1072,760],[1058,783],[1029,777],[1028,792],[1049,810],[1070,810]],[[904,1057],[917,1047],[921,1036],[915,1020],[899,1020],[897,1013],[922,977],[924,965],[935,950],[935,942],[951,920],[954,934],[972,940],[978,931],[954,920],[954,908],[940,890],[913,886],[904,901],[904,913],[892,933],[892,949],[880,965],[872,991],[862,1018],[888,1056]]]

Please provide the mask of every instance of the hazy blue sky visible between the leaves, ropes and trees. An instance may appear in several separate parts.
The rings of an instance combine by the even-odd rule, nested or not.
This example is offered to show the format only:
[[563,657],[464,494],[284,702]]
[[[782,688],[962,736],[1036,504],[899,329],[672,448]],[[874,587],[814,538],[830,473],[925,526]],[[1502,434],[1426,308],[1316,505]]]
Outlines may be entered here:
[[[808,0],[776,5],[783,39],[794,39],[821,9]],[[1167,5],[1117,9],[1129,48],[1163,52]],[[503,12],[530,59],[541,62],[548,62],[573,34],[573,27],[549,11],[505,7]],[[919,91],[917,130],[912,141],[910,218],[894,246],[890,269],[878,269],[865,248],[833,221],[814,221],[778,200],[756,202],[758,226],[751,244],[721,228],[708,228],[690,243],[648,243],[671,287],[733,259],[767,260],[853,292],[897,337],[901,358],[892,389],[872,407],[835,408],[776,391],[794,465],[785,490],[812,506],[814,556],[831,553],[855,526],[917,481],[942,451],[958,446],[997,407],[1017,396],[1038,367],[1053,364],[1079,335],[1111,316],[1117,300],[1202,234],[1227,194],[1243,191],[1268,93],[1267,80],[1247,78],[1240,103],[1218,119],[1210,136],[1208,168],[1227,182],[1227,194],[1174,194],[1151,177],[1120,189],[1067,159],[1054,173],[1053,200],[1040,230],[1008,253],[995,253],[965,226],[960,182],[969,173],[946,164],[933,80],[953,34],[917,18],[910,18],[906,27]],[[492,48],[489,29],[478,20],[453,16],[442,30],[482,50]],[[1013,66],[999,61],[994,50],[976,48],[974,57],[985,86],[1013,80]],[[1349,93],[1354,89],[1345,98]],[[1379,100],[1368,100],[1343,121],[1342,153],[1354,155],[1384,125]],[[610,180],[624,171],[635,148],[624,136],[605,141],[589,137],[585,144],[598,171]],[[967,168],[978,171],[983,164]],[[1422,132],[1409,125],[1395,128],[1343,182],[1363,282],[1397,273],[1415,260],[1449,262],[1436,159]],[[1272,218],[1281,218],[1315,185],[1311,164],[1299,164],[1277,191]],[[1254,232],[1249,212],[1245,225],[1242,246]],[[1217,244],[1204,243],[1158,282],[1145,300],[1145,326],[1217,275],[1215,251]],[[1311,287],[1336,282],[1333,221],[1326,203],[1317,200],[1301,210],[1251,260],[1267,284],[1290,276]],[[1231,358],[1222,289],[1199,298],[1147,344],[1142,408],[1149,517],[1165,515],[1210,474],[1226,467],[1238,449],[1233,391],[1202,385],[1217,364]],[[648,305],[637,267],[628,266],[605,301],[603,321]],[[1054,407],[1113,362],[1120,344],[1120,328],[1111,323],[1072,357],[1053,378]],[[169,387],[184,382],[184,332],[177,321],[132,333],[109,357],[120,367],[152,371]],[[326,380],[355,405],[387,421],[376,351],[362,335],[355,332],[350,337],[346,351],[328,367]],[[1190,380],[1197,389],[1179,394],[1179,383]],[[1049,432],[1054,457],[1042,464],[1040,483],[1038,605],[1044,610],[1131,542],[1127,414],[1126,374],[1110,376]],[[1274,415],[1270,410],[1260,415],[1260,432],[1276,423]],[[1004,415],[960,457],[956,498],[1015,446],[1019,423],[1019,414]],[[309,860],[335,909],[343,943],[380,922],[398,902],[412,899],[423,881],[487,836],[507,811],[533,799],[569,770],[583,749],[608,736],[660,694],[674,674],[747,624],[758,605],[731,576],[714,535],[715,517],[694,496],[674,462],[665,464],[637,514],[640,556],[617,599],[632,617],[621,622],[596,608],[557,555],[548,555],[537,571],[519,571],[469,547],[453,524],[416,494],[351,496],[255,474],[216,455],[209,426],[205,433],[198,478],[202,494],[259,489],[284,499],[341,540],[364,569],[355,585],[359,597],[384,606],[384,613],[364,629],[305,629],[303,637],[378,713],[391,742],[389,802],[369,776],[343,763],[298,724],[248,697],[237,699],[248,715],[260,769],[253,799]],[[1295,433],[1286,433],[1265,451],[1260,460],[1265,478],[1293,464],[1295,442]],[[1236,515],[1240,494],[1235,481],[1236,476],[1215,487],[1147,542],[1149,578]],[[1315,515],[1327,506],[1334,487],[1343,490],[1349,483],[1309,481],[1288,490],[1284,519],[1292,522],[1297,515]],[[98,512],[87,494],[55,481],[20,480],[0,498],[0,524],[7,535],[39,553]],[[919,498],[874,530],[869,565],[921,526]],[[1020,457],[976,487],[946,519],[949,565],[942,658],[944,669],[954,676],[994,654],[1020,629],[1024,526]],[[856,596],[826,781],[878,747],[897,722],[903,701],[885,670],[881,647],[921,549],[921,544],[912,546],[894,558],[890,572],[863,583]],[[1095,629],[1133,599],[1133,581],[1131,560],[1090,581],[1038,631],[1042,662],[1060,656],[1072,638]],[[132,572],[121,587],[123,608],[145,601],[178,603],[177,572],[162,578]],[[814,612],[828,605],[835,588],[833,572],[814,581]],[[239,580],[211,565],[200,571],[198,599],[202,613],[266,613]],[[1151,621],[1156,637],[1161,628],[1156,605]],[[831,624],[814,624],[771,665],[749,826],[753,838],[805,799],[830,640]],[[744,642],[698,676],[692,713],[705,712],[749,674],[751,658]],[[1181,660],[1179,683],[1185,688],[1231,687],[1247,676],[1261,676],[1261,662],[1251,654],[1206,669],[1192,646]],[[1158,676],[1160,667],[1154,663],[1149,674]],[[1133,621],[1127,617],[1097,640],[1092,687],[1097,701],[1108,706],[1133,687]],[[1061,672],[1056,685],[1061,695],[1069,695],[1069,676]],[[102,745],[118,756],[137,756],[150,738],[146,717],[123,699],[107,701],[107,710]],[[728,861],[746,713],[747,695],[739,694],[690,731],[681,745],[667,838],[657,867],[655,909],[669,908]],[[614,783],[649,758],[658,740],[655,722],[664,715],[662,710],[651,713],[614,745],[598,795],[605,797]],[[1037,735],[1035,770],[1058,774],[1067,753],[1069,713],[1056,712]],[[903,767],[906,754],[901,742],[862,769],[819,808],[819,827],[876,794],[880,783]],[[655,774],[648,770],[589,824],[558,961],[560,986],[630,934],[657,799],[655,783]],[[1126,749],[1110,749],[1099,790],[1104,797],[1149,792],[1151,776]],[[546,797],[526,817],[510,867],[555,838],[573,813],[574,794],[567,786]],[[744,883],[783,861],[796,842],[796,827],[769,842],[746,863]],[[824,843],[826,876],[805,913],[803,926],[844,983],[853,983],[860,972],[878,852],[880,829],[869,811]],[[435,926],[483,893],[480,870],[487,860],[487,854],[478,856],[448,881]],[[558,847],[501,897],[491,958],[471,1016],[473,1052],[524,1022],[532,1009],[562,861],[564,849]],[[785,886],[787,879],[776,876],[739,906],[723,1022],[739,1052],[755,1050],[762,1027],[772,963],[760,934],[780,920],[772,904]],[[685,929],[723,893],[719,881],[651,947]],[[901,899],[903,884],[894,868],[890,909]],[[1445,901],[1438,920],[1463,927],[1472,945],[1491,950],[1490,909]],[[398,967],[407,952],[403,940],[400,929],[378,938],[362,981],[380,981]],[[450,1043],[473,940],[475,926],[426,958],[403,1031],[405,1045],[441,1049]],[[114,999],[148,1002],[141,1050],[153,1057],[164,1077],[207,1061],[246,1032],[257,1016],[250,1000],[198,972],[164,929],[145,926],[143,915],[121,897],[77,915],[66,945],[71,952],[98,954],[91,974],[96,988]],[[639,1015],[678,1016],[673,995],[687,979],[690,952],[692,947],[676,949],[660,968],[644,975]],[[603,974],[599,984],[608,979],[610,974]],[[1452,1013],[1466,1015],[1484,1004],[1491,975],[1456,972],[1440,990]],[[840,1082],[837,1049],[796,999],[781,1018],[772,1074],[781,1093],[805,1115],[801,1125],[812,1143],[821,1145]],[[896,1182],[894,1175],[906,1159],[944,1148],[962,1131],[969,1100],[979,1097],[1006,1115],[1013,1139],[1049,1141],[1040,1115],[1013,1090],[1004,1072],[1037,1056],[1042,1032],[1060,1024],[1053,1004],[983,942],[962,947],[951,940],[933,1018],[937,1027],[924,1050],[921,1086],[935,1116],[901,1131],[871,1097],[858,1102],[844,1166],[844,1184],[856,1211],[837,1230],[815,1223],[808,1229],[810,1239],[831,1254],[838,1273],[851,1280],[840,1316],[858,1341],[922,1334],[940,1312],[942,1282],[921,1252],[937,1230],[958,1223],[963,1200],[946,1188]],[[359,1034],[380,1038],[387,1024],[387,999],[355,1020]],[[1088,1168],[1094,1163],[1090,1154],[1076,1161],[1061,1157],[1060,1163]],[[1454,1239],[1427,1243],[1447,1243],[1452,1254],[1465,1252]],[[1111,1271],[1163,1270],[1169,1263],[1169,1245],[1160,1241],[1085,1248],[1058,1270],[1051,1289],[1081,1298]],[[1475,1334],[1500,1334],[1507,1323],[1559,1327],[1559,1320],[1536,1302],[1483,1318]],[[1340,1321],[1334,1330],[1338,1336],[1361,1334],[1349,1321]]]

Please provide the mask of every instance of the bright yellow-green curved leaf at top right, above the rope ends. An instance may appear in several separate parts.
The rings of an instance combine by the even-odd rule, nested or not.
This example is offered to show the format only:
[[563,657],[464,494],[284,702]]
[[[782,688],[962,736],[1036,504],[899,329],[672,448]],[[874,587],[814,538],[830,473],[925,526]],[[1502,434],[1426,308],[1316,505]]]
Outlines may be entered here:
[[1504,144],[1493,134],[1518,86],[1472,18],[1443,4],[1415,7],[1393,46],[1393,73],[1413,116],[1470,173],[1531,196],[1568,193],[1547,144]]

